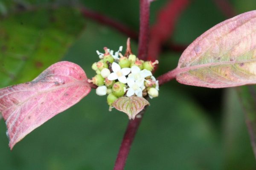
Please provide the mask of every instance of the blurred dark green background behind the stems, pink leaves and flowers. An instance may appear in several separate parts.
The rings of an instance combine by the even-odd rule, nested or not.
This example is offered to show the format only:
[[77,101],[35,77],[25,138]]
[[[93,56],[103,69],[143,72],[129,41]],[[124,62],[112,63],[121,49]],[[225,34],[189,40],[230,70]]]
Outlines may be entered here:
[[[151,24],[168,0],[151,3]],[[60,60],[79,64],[88,77],[96,50],[117,50],[127,37],[81,16],[86,6],[139,30],[138,0],[0,0],[0,88],[30,81]],[[230,0],[237,14],[255,0]],[[61,6],[61,7],[60,7]],[[27,11],[28,9],[28,11]],[[171,17],[171,16],[170,16]],[[213,0],[192,0],[173,37],[189,44],[226,17]],[[137,42],[132,40],[136,54]],[[181,53],[164,50],[156,77],[176,67]],[[208,89],[175,80],[150,100],[129,154],[126,170],[255,170],[256,163],[235,88]],[[108,111],[95,90],[77,105],[27,135],[12,151],[0,120],[0,169],[109,170],[113,168],[128,118]]]

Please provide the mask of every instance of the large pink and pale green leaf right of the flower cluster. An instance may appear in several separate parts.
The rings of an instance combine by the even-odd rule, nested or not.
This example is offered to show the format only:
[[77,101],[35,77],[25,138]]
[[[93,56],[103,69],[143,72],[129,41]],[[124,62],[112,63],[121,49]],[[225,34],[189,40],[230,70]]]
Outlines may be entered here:
[[186,48],[178,82],[208,88],[256,83],[256,11],[217,24]]

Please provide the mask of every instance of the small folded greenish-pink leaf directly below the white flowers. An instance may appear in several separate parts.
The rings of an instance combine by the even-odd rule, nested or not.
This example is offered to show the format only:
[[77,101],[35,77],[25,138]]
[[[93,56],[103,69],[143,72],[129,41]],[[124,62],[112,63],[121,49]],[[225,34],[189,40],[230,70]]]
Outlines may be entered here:
[[129,119],[134,119],[146,105],[149,105],[148,100],[137,96],[120,97],[113,102],[113,107],[126,113]]

